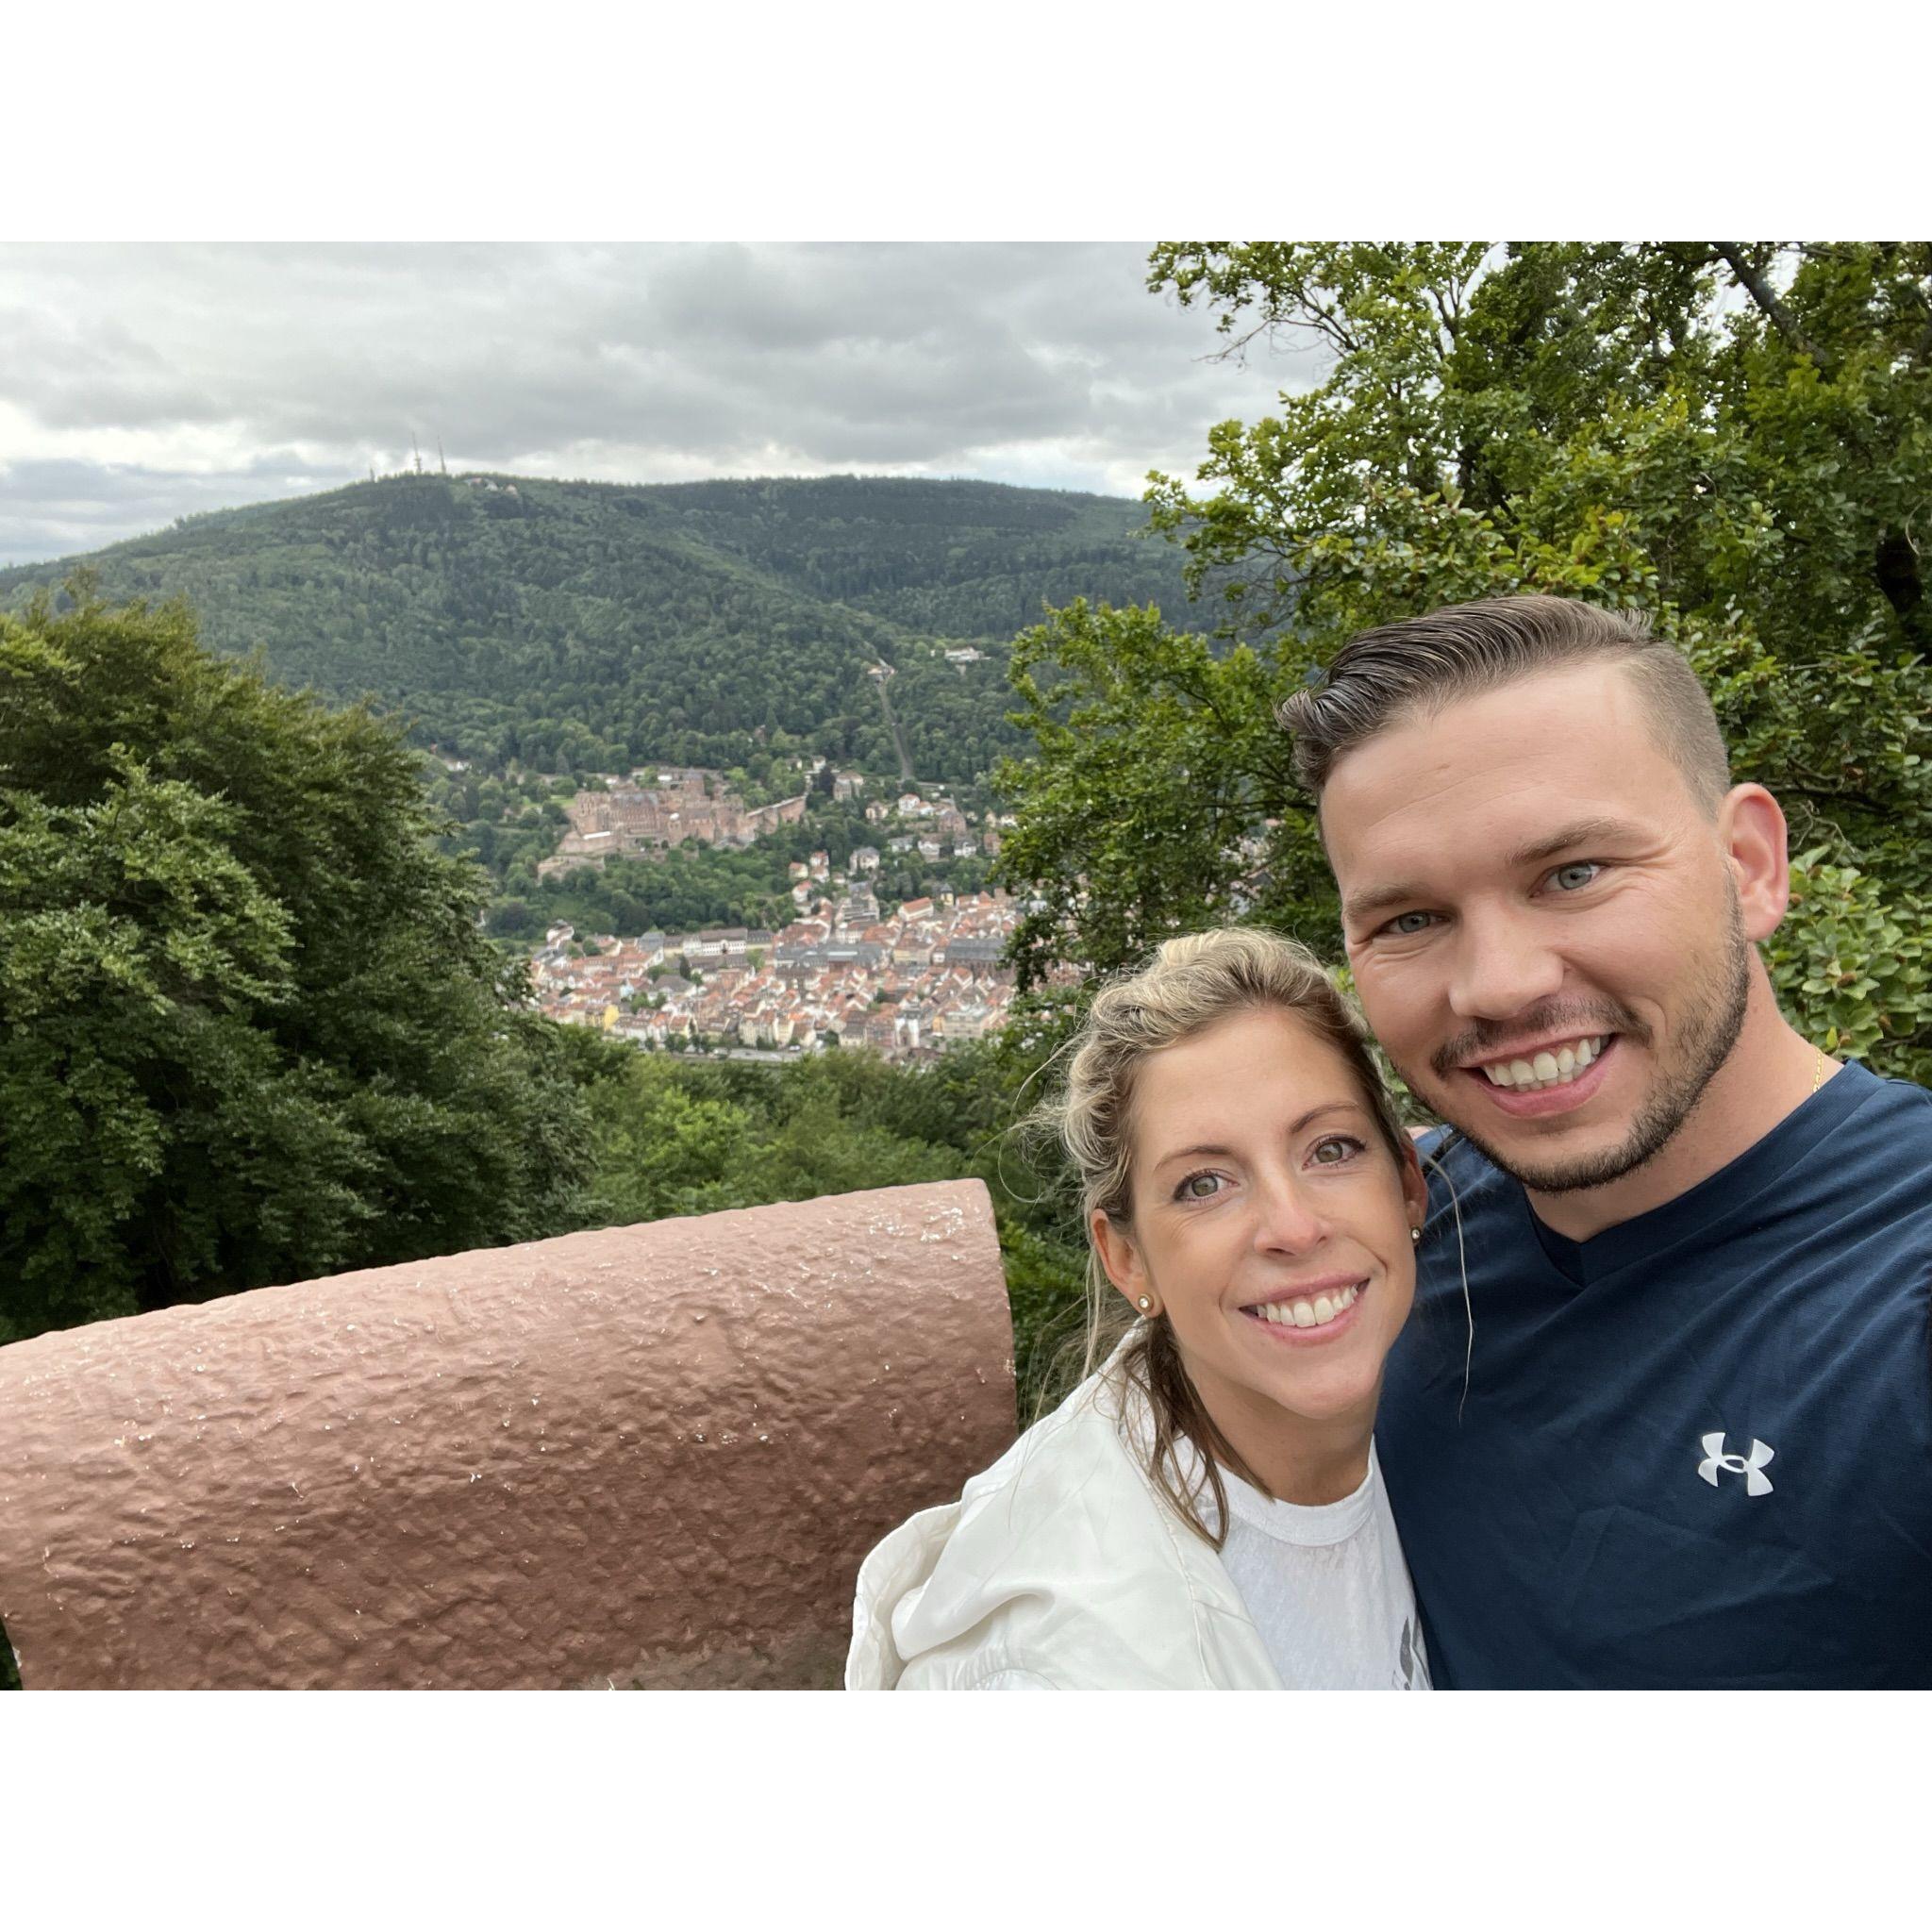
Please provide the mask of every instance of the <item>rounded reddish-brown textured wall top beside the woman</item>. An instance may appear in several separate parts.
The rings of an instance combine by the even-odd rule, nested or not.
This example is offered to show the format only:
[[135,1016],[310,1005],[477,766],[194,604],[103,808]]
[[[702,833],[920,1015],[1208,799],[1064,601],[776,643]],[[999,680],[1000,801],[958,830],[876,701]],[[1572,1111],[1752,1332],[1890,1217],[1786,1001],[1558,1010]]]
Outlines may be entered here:
[[1014,1434],[978,1180],[0,1349],[31,1689],[833,1685],[860,1557]]

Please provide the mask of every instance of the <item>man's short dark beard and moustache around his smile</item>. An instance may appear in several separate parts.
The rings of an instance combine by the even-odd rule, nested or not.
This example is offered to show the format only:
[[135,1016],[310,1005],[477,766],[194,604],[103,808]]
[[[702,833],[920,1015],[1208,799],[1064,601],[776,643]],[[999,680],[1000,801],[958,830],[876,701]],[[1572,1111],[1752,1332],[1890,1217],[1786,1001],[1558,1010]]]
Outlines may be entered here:
[[[1611,1180],[1621,1180],[1662,1153],[1685,1121],[1690,1119],[1692,1107],[1704,1097],[1704,1088],[1710,1086],[1712,1076],[1731,1057],[1731,1047],[1737,1045],[1737,1036],[1745,1030],[1748,1005],[1750,941],[1745,937],[1745,920],[1737,904],[1737,893],[1733,891],[1729,895],[1723,951],[1714,960],[1710,974],[1692,989],[1685,1003],[1679,1026],[1679,1065],[1675,1070],[1663,1072],[1656,1088],[1640,1101],[1623,1146],[1551,1167],[1534,1167],[1520,1153],[1505,1155],[1497,1148],[1492,1148],[1480,1134],[1463,1126],[1447,1111],[1443,1111],[1443,1119],[1492,1167],[1499,1167],[1505,1175],[1515,1177],[1538,1194],[1575,1194],[1582,1188],[1609,1186]],[[1613,1003],[1592,1010],[1567,1010],[1557,1005],[1544,1007],[1511,1022],[1509,1032],[1548,1034],[1555,1028],[1571,1028],[1578,1034],[1617,1034],[1634,1045],[1650,1045],[1652,1037],[1650,1028],[1634,1012]],[[1484,1034],[1503,1037],[1503,1028],[1480,1026],[1463,1034],[1435,1055],[1432,1063],[1434,1070],[1445,1082],[1453,1082],[1463,1061],[1484,1051],[1488,1043],[1482,1037]],[[1414,1086],[1412,1080],[1410,1086]]]

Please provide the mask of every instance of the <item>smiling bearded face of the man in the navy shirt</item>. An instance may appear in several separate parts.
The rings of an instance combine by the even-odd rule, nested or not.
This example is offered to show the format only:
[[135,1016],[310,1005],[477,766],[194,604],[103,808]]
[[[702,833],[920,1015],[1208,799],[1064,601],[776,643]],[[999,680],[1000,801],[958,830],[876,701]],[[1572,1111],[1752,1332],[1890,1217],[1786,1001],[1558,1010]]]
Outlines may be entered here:
[[1321,829],[1362,1007],[1420,1099],[1551,1194],[1669,1144],[1737,1041],[1750,949],[1721,821],[1621,668],[1381,732]]

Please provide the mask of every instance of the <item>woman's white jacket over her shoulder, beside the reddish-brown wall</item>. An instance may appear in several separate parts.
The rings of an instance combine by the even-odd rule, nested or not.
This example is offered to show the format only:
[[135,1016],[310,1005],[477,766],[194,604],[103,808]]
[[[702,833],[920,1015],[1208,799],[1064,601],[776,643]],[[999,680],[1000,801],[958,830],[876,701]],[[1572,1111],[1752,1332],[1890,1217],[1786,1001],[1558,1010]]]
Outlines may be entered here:
[[866,1557],[848,1690],[1279,1690],[1219,1555],[1122,1435],[1101,1370],[956,1503]]

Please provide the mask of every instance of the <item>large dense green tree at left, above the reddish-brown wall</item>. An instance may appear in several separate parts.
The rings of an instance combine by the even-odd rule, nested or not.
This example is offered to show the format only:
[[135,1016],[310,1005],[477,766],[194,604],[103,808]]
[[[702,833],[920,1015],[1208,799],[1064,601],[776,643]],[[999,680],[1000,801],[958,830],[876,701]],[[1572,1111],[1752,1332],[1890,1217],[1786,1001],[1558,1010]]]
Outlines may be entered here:
[[85,582],[0,616],[0,1341],[574,1225],[415,755]]

